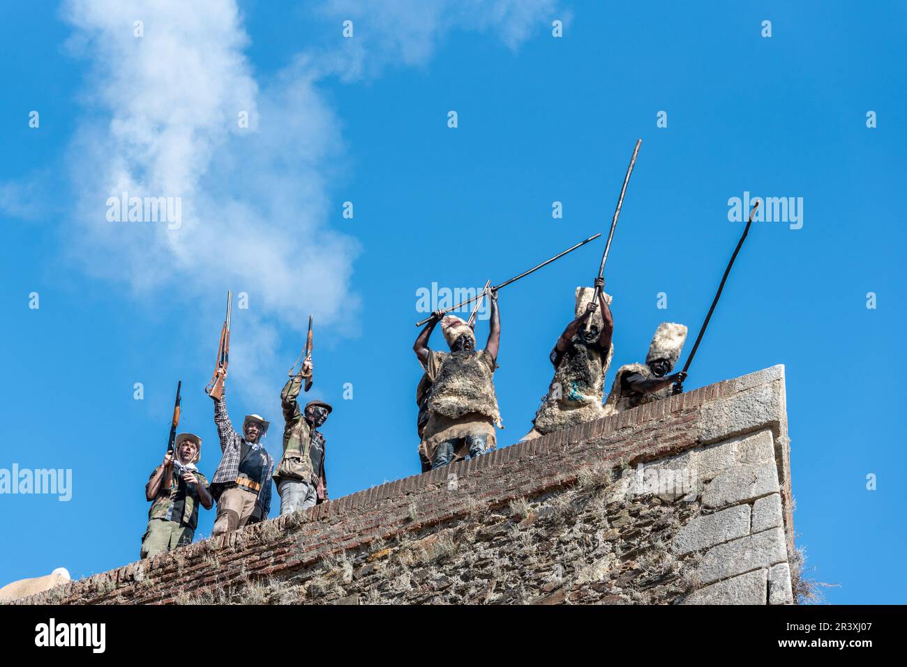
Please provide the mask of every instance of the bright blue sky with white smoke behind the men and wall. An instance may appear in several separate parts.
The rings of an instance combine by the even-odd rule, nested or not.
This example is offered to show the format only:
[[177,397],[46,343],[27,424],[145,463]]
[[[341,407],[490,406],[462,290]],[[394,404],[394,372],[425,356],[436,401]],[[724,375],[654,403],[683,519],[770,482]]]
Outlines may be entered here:
[[[416,291],[498,283],[607,233],[641,138],[606,275],[607,386],[661,321],[688,324],[691,345],[741,231],[729,198],[802,198],[801,228],[754,225],[688,387],[784,363],[812,575],[840,585],[831,603],[904,602],[901,3],[180,5],[0,8],[0,468],[73,469],[69,502],[0,496],[0,584],[138,557],[177,380],[213,473],[202,388],[228,289],[249,295],[234,420],[273,420],[278,451],[278,394],[314,313],[331,496],[417,472]],[[120,189],[181,196],[180,229],[107,222]],[[601,249],[502,290],[502,444],[529,429]]]

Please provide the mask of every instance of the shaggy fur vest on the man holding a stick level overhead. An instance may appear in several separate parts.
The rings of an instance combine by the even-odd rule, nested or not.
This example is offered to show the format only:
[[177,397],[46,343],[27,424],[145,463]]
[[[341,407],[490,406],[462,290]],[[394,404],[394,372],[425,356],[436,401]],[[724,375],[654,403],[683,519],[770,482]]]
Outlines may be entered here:
[[449,419],[478,412],[500,426],[501,414],[494,393],[490,357],[485,356],[484,351],[441,354],[444,361],[429,394],[428,410]]

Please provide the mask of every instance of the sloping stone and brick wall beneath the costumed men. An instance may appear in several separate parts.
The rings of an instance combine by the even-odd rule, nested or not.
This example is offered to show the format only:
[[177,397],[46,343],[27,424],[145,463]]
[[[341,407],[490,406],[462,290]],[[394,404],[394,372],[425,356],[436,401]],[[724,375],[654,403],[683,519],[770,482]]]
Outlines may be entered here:
[[718,382],[30,601],[791,603],[784,382]]

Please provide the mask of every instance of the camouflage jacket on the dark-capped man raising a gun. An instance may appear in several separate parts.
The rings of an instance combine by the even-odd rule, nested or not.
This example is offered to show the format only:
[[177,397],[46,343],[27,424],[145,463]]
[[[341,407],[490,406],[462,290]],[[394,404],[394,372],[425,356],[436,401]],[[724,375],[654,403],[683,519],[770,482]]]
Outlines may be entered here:
[[[302,377],[290,378],[280,392],[280,405],[284,413],[284,440],[283,456],[277,468],[274,469],[274,480],[300,479],[314,484],[317,488],[318,502],[327,500],[327,476],[325,475],[325,461],[327,460],[327,441],[312,427],[305,414],[299,408],[297,397],[302,387]],[[313,441],[320,445],[322,451],[321,463],[314,469],[312,458],[309,456]]]

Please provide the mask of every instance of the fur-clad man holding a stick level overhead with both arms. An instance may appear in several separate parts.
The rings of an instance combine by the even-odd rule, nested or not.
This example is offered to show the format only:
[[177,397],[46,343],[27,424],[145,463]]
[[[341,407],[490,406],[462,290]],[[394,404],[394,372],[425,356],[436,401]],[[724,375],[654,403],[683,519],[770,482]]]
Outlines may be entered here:
[[[454,315],[442,319],[441,313],[434,313],[415,339],[413,351],[431,382],[425,405],[428,420],[420,447],[432,469],[493,449],[494,426],[503,428],[492,379],[501,342],[501,317],[497,293],[492,292],[489,298],[491,323],[484,350],[476,351],[473,327]],[[428,348],[428,339],[439,321],[449,353]]]

